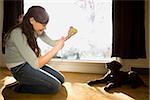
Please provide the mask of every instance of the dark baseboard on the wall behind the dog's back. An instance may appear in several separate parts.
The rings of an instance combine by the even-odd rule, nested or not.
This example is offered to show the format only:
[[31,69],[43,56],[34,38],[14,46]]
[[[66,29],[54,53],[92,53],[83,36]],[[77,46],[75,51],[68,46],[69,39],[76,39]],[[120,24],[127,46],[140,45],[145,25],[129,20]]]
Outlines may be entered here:
[[131,67],[132,71],[136,71],[138,74],[142,75],[149,75],[150,68],[137,68],[137,67]]

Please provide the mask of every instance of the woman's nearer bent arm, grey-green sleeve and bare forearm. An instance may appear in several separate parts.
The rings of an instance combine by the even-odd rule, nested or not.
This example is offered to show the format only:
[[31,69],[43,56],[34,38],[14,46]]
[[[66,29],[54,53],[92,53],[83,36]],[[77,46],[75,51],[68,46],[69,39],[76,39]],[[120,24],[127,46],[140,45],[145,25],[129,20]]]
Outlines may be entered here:
[[27,61],[33,68],[41,68],[52,59],[52,57],[64,46],[64,38],[62,37],[56,46],[54,46],[47,54],[41,57],[36,57],[33,50],[27,43],[26,36],[22,34],[21,29],[15,29],[11,34],[12,42],[18,49],[18,53]]

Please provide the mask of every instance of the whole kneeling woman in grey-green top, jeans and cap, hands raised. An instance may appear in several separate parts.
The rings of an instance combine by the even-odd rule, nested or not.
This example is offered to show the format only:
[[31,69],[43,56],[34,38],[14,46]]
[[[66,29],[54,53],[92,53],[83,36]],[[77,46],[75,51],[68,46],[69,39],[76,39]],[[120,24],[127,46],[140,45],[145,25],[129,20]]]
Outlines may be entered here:
[[[22,22],[13,27],[6,36],[5,60],[14,78],[19,82],[14,89],[16,92],[56,93],[64,83],[64,76],[45,64],[77,31],[71,27],[68,36],[51,40],[44,32],[48,21],[49,16],[43,7],[32,6]],[[38,37],[53,46],[45,55],[40,55]]]

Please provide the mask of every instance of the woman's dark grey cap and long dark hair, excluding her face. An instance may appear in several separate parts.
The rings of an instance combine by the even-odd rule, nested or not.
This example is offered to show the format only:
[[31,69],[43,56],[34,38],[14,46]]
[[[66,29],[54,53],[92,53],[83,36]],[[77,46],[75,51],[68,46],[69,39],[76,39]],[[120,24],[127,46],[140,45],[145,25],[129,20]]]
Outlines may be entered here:
[[32,6],[28,9],[27,13],[24,15],[22,23],[15,26],[15,27],[21,27],[22,33],[26,36],[29,46],[38,57],[40,55],[40,48],[38,47],[37,44],[37,39],[35,37],[35,31],[33,29],[33,26],[30,23],[31,17],[33,17],[35,21],[41,24],[47,24],[49,21],[49,16],[43,7]]

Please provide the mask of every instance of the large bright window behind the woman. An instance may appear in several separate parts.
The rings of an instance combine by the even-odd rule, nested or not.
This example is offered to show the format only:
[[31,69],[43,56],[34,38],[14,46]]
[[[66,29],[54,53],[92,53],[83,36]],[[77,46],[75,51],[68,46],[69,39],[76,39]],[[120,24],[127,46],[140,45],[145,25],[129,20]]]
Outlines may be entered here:
[[[62,59],[101,60],[111,58],[112,0],[24,0],[25,12],[43,6],[50,16],[46,32],[52,39],[67,35],[70,26],[78,33],[65,43],[57,56]],[[51,47],[38,40],[42,52]]]

